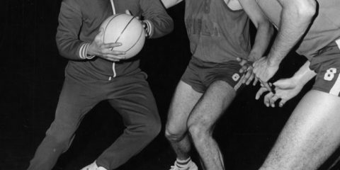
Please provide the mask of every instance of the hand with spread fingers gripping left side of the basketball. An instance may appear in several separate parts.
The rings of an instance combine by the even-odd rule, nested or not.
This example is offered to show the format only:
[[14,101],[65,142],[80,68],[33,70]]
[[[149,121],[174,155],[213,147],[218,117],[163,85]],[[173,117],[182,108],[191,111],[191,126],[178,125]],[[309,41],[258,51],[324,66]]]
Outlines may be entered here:
[[122,45],[120,42],[115,43],[104,43],[104,33],[103,28],[99,30],[99,33],[96,35],[96,38],[91,42],[89,48],[87,49],[88,55],[96,55],[105,60],[110,60],[112,62],[119,62],[120,60],[124,60],[125,57],[121,57],[119,55],[125,55],[123,51],[115,51],[114,47],[118,47]]

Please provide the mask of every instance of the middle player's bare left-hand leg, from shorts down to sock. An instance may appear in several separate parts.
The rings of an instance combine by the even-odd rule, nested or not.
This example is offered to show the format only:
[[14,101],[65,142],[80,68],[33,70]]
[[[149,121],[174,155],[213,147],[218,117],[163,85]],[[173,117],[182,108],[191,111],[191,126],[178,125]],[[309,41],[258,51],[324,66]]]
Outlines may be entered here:
[[166,122],[165,136],[171,143],[178,159],[188,159],[191,143],[187,134],[186,123],[188,115],[202,94],[194,91],[191,86],[179,82],[174,98],[169,108],[168,120]]

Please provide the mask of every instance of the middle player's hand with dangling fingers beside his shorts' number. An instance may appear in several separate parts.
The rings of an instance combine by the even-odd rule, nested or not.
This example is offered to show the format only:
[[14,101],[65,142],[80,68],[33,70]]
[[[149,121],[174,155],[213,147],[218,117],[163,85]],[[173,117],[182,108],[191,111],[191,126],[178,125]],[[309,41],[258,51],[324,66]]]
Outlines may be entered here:
[[[254,79],[254,73],[253,73],[253,67],[252,67],[252,62],[249,60],[244,60],[240,57],[237,57],[237,61],[241,65],[241,69],[239,69],[239,73],[244,73],[244,77],[242,78],[242,84],[249,85],[251,81]],[[257,79],[254,80],[253,86],[257,84]]]

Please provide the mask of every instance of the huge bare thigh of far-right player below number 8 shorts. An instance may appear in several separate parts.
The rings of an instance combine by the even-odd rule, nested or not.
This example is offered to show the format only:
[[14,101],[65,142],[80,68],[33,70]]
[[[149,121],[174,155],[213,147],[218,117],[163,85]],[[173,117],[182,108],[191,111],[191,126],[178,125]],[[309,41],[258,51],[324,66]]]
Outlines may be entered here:
[[317,169],[340,143],[340,98],[309,91],[293,111],[264,169]]

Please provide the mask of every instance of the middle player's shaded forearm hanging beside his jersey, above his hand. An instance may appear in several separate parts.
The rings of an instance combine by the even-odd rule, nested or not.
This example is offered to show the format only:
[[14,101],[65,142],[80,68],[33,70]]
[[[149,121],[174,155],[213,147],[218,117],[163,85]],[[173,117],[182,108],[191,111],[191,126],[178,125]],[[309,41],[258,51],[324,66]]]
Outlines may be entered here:
[[271,23],[268,21],[259,23],[254,45],[251,48],[251,52],[249,54],[249,60],[256,61],[264,55],[264,52],[266,52],[269,42],[271,41],[272,35],[273,26],[271,26]]

